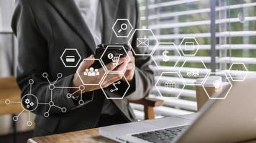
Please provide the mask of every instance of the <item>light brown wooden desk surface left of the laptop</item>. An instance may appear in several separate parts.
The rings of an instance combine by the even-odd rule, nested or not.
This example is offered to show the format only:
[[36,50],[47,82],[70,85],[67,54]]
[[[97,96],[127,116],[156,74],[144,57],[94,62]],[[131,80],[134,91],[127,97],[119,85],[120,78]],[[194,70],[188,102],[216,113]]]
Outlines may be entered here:
[[68,132],[64,134],[54,134],[50,136],[44,137],[35,137],[32,139],[28,139],[27,143],[84,143],[84,142],[101,142],[101,143],[114,143],[114,141],[110,139],[106,139],[105,137],[99,136],[99,129],[87,129],[83,131],[77,132]]

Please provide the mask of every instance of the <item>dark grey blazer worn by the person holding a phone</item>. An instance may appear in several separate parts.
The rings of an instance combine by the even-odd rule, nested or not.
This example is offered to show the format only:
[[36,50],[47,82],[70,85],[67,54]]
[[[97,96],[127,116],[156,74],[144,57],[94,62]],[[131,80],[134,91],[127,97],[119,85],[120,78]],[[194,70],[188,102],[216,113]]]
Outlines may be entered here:
[[[129,38],[116,38],[111,26],[116,19],[129,19],[132,26],[137,28],[138,4],[136,0],[101,0],[104,18],[104,44],[123,44]],[[76,48],[82,59],[94,54],[96,45],[93,37],[83,21],[83,18],[73,0],[17,0],[12,19],[12,29],[17,35],[19,43],[19,57],[17,67],[17,82],[22,89],[22,96],[29,92],[29,79],[32,94],[39,102],[50,102],[48,82],[42,78],[47,72],[50,81],[57,78],[58,73],[63,78],[55,83],[59,87],[70,87],[76,68],[65,68],[60,56],[66,48]],[[132,46],[135,45],[137,35],[134,35]],[[138,49],[135,49],[138,51]],[[149,94],[153,82],[153,73],[149,68],[150,56],[136,56],[134,81],[131,83],[129,94],[124,99],[113,99],[116,108],[126,120],[134,121],[127,99],[129,97],[141,99]],[[43,114],[49,105],[40,104],[34,111],[35,136],[71,132],[96,127],[101,114],[104,94],[101,90],[86,92],[83,100],[86,104],[76,106],[66,97],[68,89],[54,89],[52,101],[59,107],[66,107],[63,113],[58,108],[50,109],[50,117]]]

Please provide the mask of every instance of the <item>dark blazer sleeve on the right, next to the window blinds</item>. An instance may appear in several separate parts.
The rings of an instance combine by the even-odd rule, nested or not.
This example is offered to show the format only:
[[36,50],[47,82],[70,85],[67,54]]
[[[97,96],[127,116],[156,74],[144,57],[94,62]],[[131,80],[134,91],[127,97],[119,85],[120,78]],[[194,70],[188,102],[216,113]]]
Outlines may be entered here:
[[[135,28],[140,27],[140,14],[139,14],[139,6],[137,1],[135,1],[136,6],[136,26]],[[133,36],[132,47],[136,47],[136,39],[139,36],[139,32],[136,32]],[[140,49],[134,49],[136,53],[145,54],[144,51],[140,51]],[[131,82],[131,87],[127,94],[127,99],[129,100],[138,100],[142,99],[148,94],[150,94],[150,90],[152,89],[154,83],[154,73],[152,69],[150,69],[151,58],[150,56],[134,56],[136,69],[134,72],[134,79]]]

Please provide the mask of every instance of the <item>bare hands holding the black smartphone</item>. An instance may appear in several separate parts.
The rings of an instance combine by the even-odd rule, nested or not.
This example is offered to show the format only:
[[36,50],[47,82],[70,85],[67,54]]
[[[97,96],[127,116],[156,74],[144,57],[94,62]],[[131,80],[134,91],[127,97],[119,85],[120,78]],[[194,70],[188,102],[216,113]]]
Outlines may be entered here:
[[[86,60],[84,59],[81,63],[81,65],[78,68],[78,71],[76,72],[76,74],[73,77],[73,87],[80,87],[81,85],[83,85],[83,83],[81,82],[81,79],[79,78],[78,74],[80,75],[80,77],[82,78],[83,81],[86,81],[86,83],[94,83],[95,81],[100,81],[102,78],[102,76],[95,76],[95,77],[88,77],[88,76],[83,76],[84,75],[84,71],[86,71],[86,69],[90,69],[91,65],[95,62],[94,60],[94,56],[91,55],[89,56]],[[119,65],[114,65],[112,62],[109,64],[106,64],[106,69],[109,69],[109,71],[111,70],[115,70],[115,71],[121,71],[122,69],[126,69],[124,66],[127,64],[127,59],[121,58],[119,59]],[[101,67],[100,69],[98,69],[99,73],[104,73],[104,69]],[[125,72],[125,71],[124,71]],[[114,82],[122,79],[123,74],[119,73],[119,74],[108,74],[107,77],[104,79],[104,82],[101,84],[101,87],[106,88],[109,87],[109,85],[113,84]],[[100,89],[101,87],[99,85],[86,85],[84,86],[84,92],[91,92],[94,91],[96,89]]]

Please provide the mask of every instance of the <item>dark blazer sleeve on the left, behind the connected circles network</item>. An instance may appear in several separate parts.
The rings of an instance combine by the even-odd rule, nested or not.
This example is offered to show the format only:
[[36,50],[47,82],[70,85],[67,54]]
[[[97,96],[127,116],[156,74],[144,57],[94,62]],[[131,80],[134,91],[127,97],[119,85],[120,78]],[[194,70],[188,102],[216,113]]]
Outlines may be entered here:
[[[42,103],[33,112],[35,114],[44,114],[50,111],[50,114],[60,114],[62,113],[61,108],[64,107],[67,112],[76,109],[77,106],[75,106],[72,99],[66,97],[69,89],[56,88],[51,92],[48,88],[49,83],[42,77],[43,72],[50,73],[47,40],[40,32],[29,0],[16,1],[12,29],[17,36],[19,46],[17,83],[22,90],[22,97],[29,93],[29,79],[33,79],[34,84],[32,84],[31,94],[34,94],[38,102]],[[50,75],[49,78],[53,79]],[[55,85],[58,87],[70,87],[72,79],[73,75],[63,77],[58,82],[55,82]],[[86,103],[91,101],[92,97],[93,92],[86,94],[86,98],[88,98]],[[33,101],[35,99],[30,100]],[[50,101],[60,108],[52,107],[49,110],[49,104],[44,103],[49,103]]]

